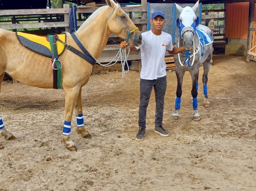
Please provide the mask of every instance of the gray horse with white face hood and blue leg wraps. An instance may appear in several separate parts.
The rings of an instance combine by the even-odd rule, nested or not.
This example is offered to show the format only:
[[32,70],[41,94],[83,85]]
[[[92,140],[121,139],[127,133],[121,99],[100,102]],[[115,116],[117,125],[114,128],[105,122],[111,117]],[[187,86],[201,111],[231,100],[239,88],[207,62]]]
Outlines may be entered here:
[[[192,77],[191,94],[194,110],[193,120],[200,120],[200,115],[198,114],[197,91],[199,67],[201,64],[203,64],[203,106],[210,107],[207,93],[207,75],[210,70],[210,61],[212,57],[213,32],[208,27],[198,24],[199,19],[195,14],[198,4],[199,1],[197,1],[193,7],[186,6],[184,8],[176,4],[177,9],[181,13],[180,17],[177,19],[177,27],[180,29],[180,37],[177,42],[177,47],[184,46],[186,51],[174,55],[174,62],[176,65],[175,73],[177,77],[175,110],[171,116],[171,119],[174,120],[179,118],[182,81],[185,71],[189,71]],[[192,52],[193,54],[191,54]]]

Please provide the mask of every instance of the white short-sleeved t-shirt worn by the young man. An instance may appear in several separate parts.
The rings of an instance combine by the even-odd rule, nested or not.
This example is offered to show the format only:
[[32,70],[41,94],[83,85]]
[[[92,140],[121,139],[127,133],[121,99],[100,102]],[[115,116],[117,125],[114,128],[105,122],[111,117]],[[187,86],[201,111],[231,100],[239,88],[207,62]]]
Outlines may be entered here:
[[155,35],[151,30],[142,35],[142,44],[137,49],[141,50],[140,77],[144,80],[155,80],[166,76],[165,52],[172,50],[172,36],[162,31]]

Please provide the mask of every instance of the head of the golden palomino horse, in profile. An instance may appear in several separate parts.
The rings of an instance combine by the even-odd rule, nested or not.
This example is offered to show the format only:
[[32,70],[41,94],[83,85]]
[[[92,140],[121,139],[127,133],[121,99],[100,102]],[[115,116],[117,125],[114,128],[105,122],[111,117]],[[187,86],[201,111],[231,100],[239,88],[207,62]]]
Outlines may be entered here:
[[117,2],[106,0],[106,3],[111,9],[110,18],[107,23],[109,30],[118,35],[122,40],[126,40],[129,44],[139,46],[141,44],[142,36],[129,16]]

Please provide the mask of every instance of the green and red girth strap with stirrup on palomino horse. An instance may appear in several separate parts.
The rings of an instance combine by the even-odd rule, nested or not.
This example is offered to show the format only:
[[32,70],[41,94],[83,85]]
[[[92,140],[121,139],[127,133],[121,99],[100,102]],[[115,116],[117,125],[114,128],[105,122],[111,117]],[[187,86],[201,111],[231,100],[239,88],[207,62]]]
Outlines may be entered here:
[[[61,62],[59,61],[59,57],[58,57],[58,51],[57,51],[57,45],[56,45],[56,39],[53,35],[48,35],[49,37],[49,42],[50,42],[50,46],[52,49],[52,56],[53,56],[53,64],[52,64],[52,68],[54,71],[57,70],[57,87],[54,87],[55,89],[61,89]],[[54,64],[56,64],[57,69],[54,68]],[[55,82],[54,82],[55,83]]]

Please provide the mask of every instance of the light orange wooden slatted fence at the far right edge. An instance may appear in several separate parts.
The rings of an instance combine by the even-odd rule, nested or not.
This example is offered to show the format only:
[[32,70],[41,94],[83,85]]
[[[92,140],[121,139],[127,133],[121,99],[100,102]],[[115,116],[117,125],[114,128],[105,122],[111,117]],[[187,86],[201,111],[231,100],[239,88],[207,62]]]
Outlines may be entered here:
[[256,22],[251,22],[250,24],[250,38],[249,40],[249,47],[248,52],[246,55],[246,60],[256,61]]

